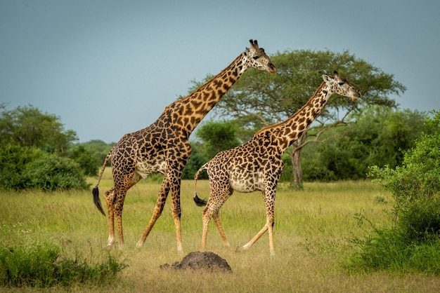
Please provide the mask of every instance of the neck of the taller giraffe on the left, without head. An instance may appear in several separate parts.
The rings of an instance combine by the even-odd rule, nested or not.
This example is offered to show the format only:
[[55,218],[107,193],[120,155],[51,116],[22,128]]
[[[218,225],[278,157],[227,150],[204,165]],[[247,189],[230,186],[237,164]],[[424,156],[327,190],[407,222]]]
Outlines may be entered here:
[[241,54],[219,74],[200,86],[193,93],[169,105],[179,119],[174,119],[188,133],[202,121],[248,68],[245,54]]

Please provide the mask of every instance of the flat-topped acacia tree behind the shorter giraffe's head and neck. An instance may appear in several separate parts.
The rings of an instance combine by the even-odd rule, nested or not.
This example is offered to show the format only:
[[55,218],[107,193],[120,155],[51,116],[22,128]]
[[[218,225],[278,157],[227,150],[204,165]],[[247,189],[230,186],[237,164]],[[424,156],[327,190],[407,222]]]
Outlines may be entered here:
[[[258,71],[246,72],[214,108],[216,114],[229,116],[248,130],[245,132],[248,137],[241,137],[243,140],[260,128],[284,121],[301,109],[321,85],[322,74],[332,74],[336,70],[362,93],[358,102],[335,94],[309,131],[304,132],[287,150],[292,160],[293,182],[299,188],[302,186],[301,151],[306,144],[320,141],[323,132],[330,128],[347,124],[349,114],[364,106],[396,108],[396,102],[389,95],[401,95],[406,90],[392,74],[384,73],[347,50],[342,53],[286,50],[271,56],[271,60],[276,64],[277,74],[269,76]],[[195,86],[198,84],[195,83]]]

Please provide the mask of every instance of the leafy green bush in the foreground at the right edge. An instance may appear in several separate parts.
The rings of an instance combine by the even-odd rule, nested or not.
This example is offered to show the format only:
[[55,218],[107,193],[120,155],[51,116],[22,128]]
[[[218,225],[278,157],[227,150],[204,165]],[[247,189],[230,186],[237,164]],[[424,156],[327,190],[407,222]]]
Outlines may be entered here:
[[375,235],[357,243],[357,266],[367,269],[421,271],[440,275],[440,112],[426,123],[429,133],[406,151],[395,169],[371,168],[394,198],[394,226],[375,229]]

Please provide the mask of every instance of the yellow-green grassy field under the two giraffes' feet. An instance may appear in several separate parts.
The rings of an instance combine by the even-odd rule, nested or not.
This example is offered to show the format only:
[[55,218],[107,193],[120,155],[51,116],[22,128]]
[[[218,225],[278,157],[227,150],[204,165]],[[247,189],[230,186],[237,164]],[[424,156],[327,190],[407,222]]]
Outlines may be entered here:
[[[96,184],[96,179],[89,180]],[[110,168],[100,184],[101,195],[112,186]],[[181,188],[184,253],[176,251],[170,201],[141,249],[135,245],[153,213],[160,184],[142,181],[128,193],[124,205],[125,248],[110,252],[128,264],[110,284],[79,284],[46,292],[438,292],[440,278],[424,274],[365,273],[349,268],[356,251],[351,238],[368,236],[371,227],[359,225],[362,214],[377,226],[389,226],[392,197],[370,182],[304,184],[304,191],[278,186],[275,208],[275,249],[271,257],[264,235],[250,250],[235,252],[222,246],[210,223],[207,250],[228,261],[233,273],[163,270],[200,250],[202,207],[193,203],[193,182]],[[209,184],[198,182],[207,198]],[[101,201],[104,200],[101,196]],[[232,247],[247,243],[266,221],[261,193],[234,193],[220,212]],[[100,261],[108,252],[106,218],[93,205],[91,191],[60,193],[0,193],[0,243],[34,245],[49,241],[63,247],[66,257]],[[0,291],[11,292],[11,288]],[[12,288],[12,292],[32,288]]]

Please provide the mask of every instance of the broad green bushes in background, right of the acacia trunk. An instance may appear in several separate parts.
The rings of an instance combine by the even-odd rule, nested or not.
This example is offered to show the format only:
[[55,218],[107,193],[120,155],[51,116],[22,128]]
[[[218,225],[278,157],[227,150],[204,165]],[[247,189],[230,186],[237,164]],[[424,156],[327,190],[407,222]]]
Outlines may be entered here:
[[408,109],[368,107],[352,119],[356,123],[328,130],[322,144],[304,147],[305,180],[365,179],[370,165],[395,168],[426,129],[424,114]]

